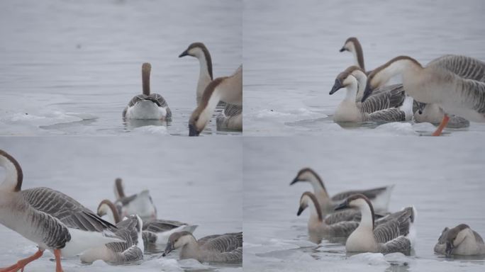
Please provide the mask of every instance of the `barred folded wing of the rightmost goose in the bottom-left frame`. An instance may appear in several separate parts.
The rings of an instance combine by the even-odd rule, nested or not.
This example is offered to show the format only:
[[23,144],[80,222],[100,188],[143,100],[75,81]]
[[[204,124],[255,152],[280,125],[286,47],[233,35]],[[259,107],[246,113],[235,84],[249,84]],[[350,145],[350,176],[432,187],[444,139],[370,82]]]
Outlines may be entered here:
[[208,251],[230,252],[243,246],[243,232],[211,235],[198,242]]

